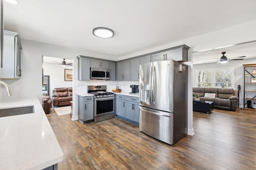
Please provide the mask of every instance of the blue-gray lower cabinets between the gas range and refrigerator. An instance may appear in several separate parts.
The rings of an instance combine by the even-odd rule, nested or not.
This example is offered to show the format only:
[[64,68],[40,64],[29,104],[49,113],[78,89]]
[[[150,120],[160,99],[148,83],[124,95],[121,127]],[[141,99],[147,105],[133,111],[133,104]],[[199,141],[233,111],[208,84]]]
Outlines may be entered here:
[[121,119],[139,125],[139,98],[116,95],[116,115]]

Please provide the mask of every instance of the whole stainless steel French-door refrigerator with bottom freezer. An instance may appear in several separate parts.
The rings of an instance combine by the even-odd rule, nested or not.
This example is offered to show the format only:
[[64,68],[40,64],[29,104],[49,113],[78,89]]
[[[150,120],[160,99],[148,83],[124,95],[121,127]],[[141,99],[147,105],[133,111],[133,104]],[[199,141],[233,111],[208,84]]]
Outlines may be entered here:
[[172,60],[140,65],[141,132],[171,145],[188,133],[187,68]]

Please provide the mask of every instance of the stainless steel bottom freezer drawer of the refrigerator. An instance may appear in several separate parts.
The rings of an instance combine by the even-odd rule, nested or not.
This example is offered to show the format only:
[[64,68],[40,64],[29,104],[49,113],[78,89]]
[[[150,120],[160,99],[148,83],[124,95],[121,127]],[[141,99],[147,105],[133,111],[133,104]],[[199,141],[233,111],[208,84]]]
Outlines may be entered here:
[[173,113],[140,106],[140,131],[168,144],[173,144]]

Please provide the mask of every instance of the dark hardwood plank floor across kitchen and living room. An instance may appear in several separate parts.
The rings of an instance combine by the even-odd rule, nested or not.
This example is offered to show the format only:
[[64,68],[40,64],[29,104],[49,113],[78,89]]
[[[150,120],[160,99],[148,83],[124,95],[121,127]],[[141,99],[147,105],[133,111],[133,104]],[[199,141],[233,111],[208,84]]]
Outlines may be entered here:
[[64,152],[59,170],[256,169],[256,111],[194,112],[193,136],[167,145],[119,118],[82,124],[47,115]]

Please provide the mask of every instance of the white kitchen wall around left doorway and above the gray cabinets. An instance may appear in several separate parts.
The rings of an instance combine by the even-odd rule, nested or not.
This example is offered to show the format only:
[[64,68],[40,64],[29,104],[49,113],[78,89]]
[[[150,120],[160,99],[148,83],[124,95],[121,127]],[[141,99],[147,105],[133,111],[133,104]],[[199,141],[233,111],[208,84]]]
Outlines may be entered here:
[[[188,28],[189,29],[189,28]],[[150,52],[159,51],[162,49],[167,49],[170,47],[175,47],[178,45],[186,44],[191,49],[190,52],[199,51],[203,49],[210,49],[221,47],[225,45],[232,45],[247,41],[256,40],[256,20],[250,21],[247,23],[243,23],[240,25],[235,25],[233,27],[228,27],[225,29],[221,29],[218,31],[214,31],[211,33],[206,33],[200,36],[191,37],[189,39],[184,39],[181,41],[176,41],[174,43],[162,45],[159,47],[155,47],[152,49],[148,49],[146,51],[141,51],[139,53],[134,53],[132,55],[126,55],[119,57],[118,60],[127,59],[130,57],[135,57],[138,55],[144,55]],[[90,53],[88,51],[81,51],[76,49],[68,49],[65,47],[59,47],[56,45],[49,45],[44,43],[38,43],[34,41],[29,41],[25,39],[21,39],[22,43],[22,78],[20,80],[4,80],[8,84],[13,86],[19,86],[20,91],[14,92],[13,96],[9,97],[24,97],[24,96],[37,96],[38,99],[42,97],[42,55],[45,56],[52,56],[58,58],[65,58],[65,59],[74,59],[74,69],[73,69],[73,93],[79,91],[86,91],[84,84],[86,82],[79,82],[77,80],[78,77],[78,62],[76,56],[78,55],[85,55],[90,57],[102,58],[102,59],[109,59],[115,60],[113,57],[110,56],[103,56],[103,55],[96,55],[95,53]],[[191,55],[191,54],[189,54]],[[193,58],[191,57],[191,61]],[[189,73],[189,75],[191,72]],[[134,84],[130,82],[122,82],[121,88],[123,83]],[[188,96],[192,96],[192,80],[188,82]],[[110,85],[115,86],[115,85]],[[4,87],[3,87],[4,88]],[[13,90],[12,90],[13,91]],[[8,98],[7,94],[5,93],[5,89],[2,89],[2,98]],[[192,98],[188,97],[188,134],[192,135],[194,133],[193,129],[193,112],[192,112]],[[73,108],[73,113],[75,113],[77,106]]]

